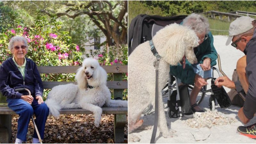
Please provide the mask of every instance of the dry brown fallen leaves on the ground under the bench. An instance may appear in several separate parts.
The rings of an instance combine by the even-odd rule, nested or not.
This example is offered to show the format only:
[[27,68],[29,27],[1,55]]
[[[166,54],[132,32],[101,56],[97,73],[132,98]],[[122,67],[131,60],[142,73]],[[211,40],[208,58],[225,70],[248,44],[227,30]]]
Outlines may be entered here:
[[[18,115],[12,115],[12,138],[17,135]],[[27,143],[32,142],[34,125],[28,126]],[[93,115],[49,116],[44,131],[43,143],[114,143],[114,115],[102,115],[100,126],[94,126]],[[124,128],[124,143],[127,143],[127,123]]]

